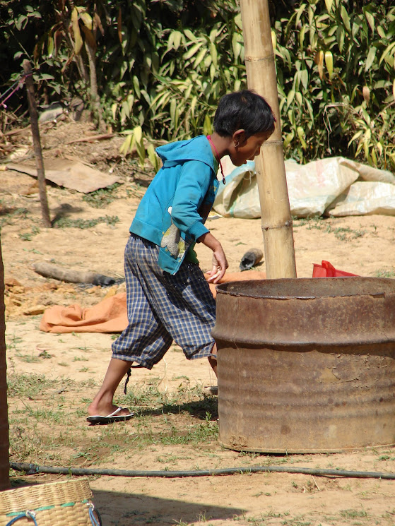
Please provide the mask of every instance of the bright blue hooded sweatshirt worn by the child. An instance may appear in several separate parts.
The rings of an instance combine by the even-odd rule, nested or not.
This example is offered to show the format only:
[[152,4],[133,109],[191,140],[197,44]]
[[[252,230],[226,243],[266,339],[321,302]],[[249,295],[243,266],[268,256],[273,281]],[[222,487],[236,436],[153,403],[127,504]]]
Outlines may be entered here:
[[[163,167],[141,199],[130,232],[160,246],[160,268],[177,273],[204,226],[216,193],[218,165],[206,136],[156,149]],[[193,247],[192,247],[193,248]]]

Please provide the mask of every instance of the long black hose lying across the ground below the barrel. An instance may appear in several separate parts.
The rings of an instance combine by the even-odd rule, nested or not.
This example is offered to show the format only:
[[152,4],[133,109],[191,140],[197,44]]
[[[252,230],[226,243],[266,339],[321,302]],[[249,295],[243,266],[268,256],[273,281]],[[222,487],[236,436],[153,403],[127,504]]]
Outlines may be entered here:
[[290,466],[252,466],[252,467],[228,467],[223,470],[196,470],[196,471],[134,471],[134,470],[95,470],[81,467],[52,467],[37,466],[23,462],[11,462],[11,469],[24,471],[28,474],[56,473],[70,475],[110,475],[112,477],[163,477],[168,479],[182,477],[211,477],[217,475],[232,475],[241,473],[301,473],[306,475],[317,475],[317,477],[348,477],[357,479],[395,479],[395,473],[380,473],[369,471],[346,471],[346,470],[320,470],[311,467]]

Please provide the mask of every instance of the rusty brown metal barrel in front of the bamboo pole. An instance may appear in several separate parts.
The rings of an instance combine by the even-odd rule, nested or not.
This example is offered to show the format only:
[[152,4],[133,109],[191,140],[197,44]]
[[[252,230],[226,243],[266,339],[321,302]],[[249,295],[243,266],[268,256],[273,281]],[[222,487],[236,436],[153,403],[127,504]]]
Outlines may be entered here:
[[395,280],[217,287],[219,440],[265,453],[395,443]]

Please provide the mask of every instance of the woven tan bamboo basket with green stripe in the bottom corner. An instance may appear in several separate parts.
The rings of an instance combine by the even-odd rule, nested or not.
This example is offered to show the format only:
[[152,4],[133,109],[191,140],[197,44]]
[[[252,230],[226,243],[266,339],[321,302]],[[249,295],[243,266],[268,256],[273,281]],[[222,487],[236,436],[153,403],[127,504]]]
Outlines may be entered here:
[[[23,516],[33,512],[30,516]],[[97,526],[88,479],[66,480],[0,491],[0,526]]]

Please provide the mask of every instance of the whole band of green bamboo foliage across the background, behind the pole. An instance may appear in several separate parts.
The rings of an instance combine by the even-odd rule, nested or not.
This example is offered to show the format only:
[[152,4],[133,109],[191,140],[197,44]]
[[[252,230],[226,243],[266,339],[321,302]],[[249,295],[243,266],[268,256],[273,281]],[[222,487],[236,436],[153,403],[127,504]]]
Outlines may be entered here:
[[[30,0],[0,6],[0,23],[13,13],[1,26],[12,36],[0,43],[4,56],[14,49],[16,68],[35,57],[39,97],[89,101],[95,33],[102,119],[124,133],[122,153],[136,152],[141,165],[158,162],[158,143],[210,133],[219,97],[247,85],[238,0],[40,1],[46,17]],[[270,5],[285,157],[355,156],[394,170],[394,3]]]

